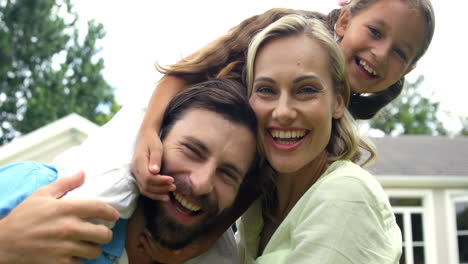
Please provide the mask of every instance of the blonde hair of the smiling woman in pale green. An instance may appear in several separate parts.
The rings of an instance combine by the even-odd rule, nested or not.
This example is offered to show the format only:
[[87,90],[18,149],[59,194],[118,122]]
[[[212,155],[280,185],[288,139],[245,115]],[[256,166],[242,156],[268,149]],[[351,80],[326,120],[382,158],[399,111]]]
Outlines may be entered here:
[[[317,40],[325,48],[329,58],[329,65],[324,65],[324,67],[329,66],[330,68],[334,93],[336,95],[340,94],[347,105],[350,97],[350,86],[347,79],[345,59],[340,46],[322,21],[297,14],[278,19],[252,38],[246,58],[246,84],[249,97],[252,94],[253,70],[257,52],[272,39],[299,34]],[[359,136],[354,119],[345,109],[343,117],[332,121],[331,137],[326,147],[329,159],[358,162],[361,159],[360,148],[367,150],[370,154],[363,162],[363,165],[375,159],[376,152],[374,148]],[[261,148],[260,152],[263,153]]]

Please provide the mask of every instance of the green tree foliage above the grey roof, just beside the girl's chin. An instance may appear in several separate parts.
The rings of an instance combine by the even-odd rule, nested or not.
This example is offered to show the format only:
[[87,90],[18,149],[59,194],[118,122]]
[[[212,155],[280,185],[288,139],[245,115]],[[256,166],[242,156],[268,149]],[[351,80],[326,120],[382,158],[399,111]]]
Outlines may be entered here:
[[447,130],[437,118],[439,103],[418,92],[424,77],[406,83],[402,94],[370,121],[370,126],[387,135],[446,135]]

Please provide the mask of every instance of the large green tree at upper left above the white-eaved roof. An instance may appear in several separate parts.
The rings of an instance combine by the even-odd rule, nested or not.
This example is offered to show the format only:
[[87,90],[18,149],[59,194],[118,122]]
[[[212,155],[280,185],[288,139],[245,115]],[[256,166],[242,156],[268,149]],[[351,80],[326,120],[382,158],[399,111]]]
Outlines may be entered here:
[[0,1],[0,145],[69,113],[103,124],[118,110],[96,42],[80,36],[70,0]]

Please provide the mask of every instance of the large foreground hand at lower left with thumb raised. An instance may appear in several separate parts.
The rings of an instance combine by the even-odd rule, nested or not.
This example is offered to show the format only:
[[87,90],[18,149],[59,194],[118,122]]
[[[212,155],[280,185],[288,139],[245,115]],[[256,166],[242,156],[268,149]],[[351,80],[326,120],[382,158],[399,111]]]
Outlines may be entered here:
[[91,200],[60,200],[84,174],[58,179],[38,189],[0,220],[0,263],[82,263],[101,254],[112,231],[87,221],[116,221],[117,210]]

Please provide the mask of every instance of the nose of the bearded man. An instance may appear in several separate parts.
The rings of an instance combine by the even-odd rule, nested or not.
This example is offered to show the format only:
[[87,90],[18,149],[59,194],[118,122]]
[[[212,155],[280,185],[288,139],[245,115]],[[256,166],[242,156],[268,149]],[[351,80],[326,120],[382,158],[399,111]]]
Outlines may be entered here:
[[205,195],[213,191],[213,182],[216,175],[216,167],[207,162],[194,169],[191,174],[193,193],[195,195]]

